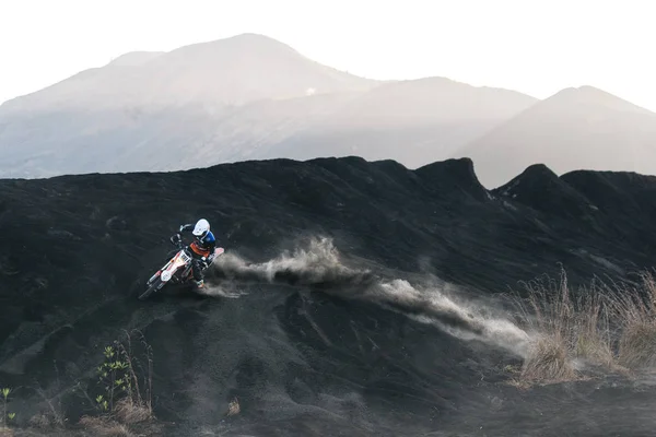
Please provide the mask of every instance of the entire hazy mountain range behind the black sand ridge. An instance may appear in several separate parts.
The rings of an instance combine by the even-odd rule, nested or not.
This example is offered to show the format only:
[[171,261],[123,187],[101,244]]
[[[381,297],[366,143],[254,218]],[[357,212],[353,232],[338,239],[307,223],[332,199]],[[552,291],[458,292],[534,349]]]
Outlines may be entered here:
[[593,86],[539,101],[445,78],[374,81],[244,34],[129,52],[0,106],[0,177],[359,155],[471,157],[485,187],[534,164],[656,173],[656,118]]

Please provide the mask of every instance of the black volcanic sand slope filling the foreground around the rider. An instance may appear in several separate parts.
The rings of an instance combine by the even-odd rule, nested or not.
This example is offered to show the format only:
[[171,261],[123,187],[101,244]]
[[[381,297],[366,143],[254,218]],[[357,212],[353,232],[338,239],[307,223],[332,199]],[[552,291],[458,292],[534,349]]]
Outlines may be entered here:
[[[534,166],[489,192],[468,160],[411,172],[349,157],[0,189],[0,386],[16,389],[20,426],[48,409],[35,387],[70,423],[92,412],[71,389],[139,329],[166,435],[656,433],[648,385],[508,385],[512,327],[492,339],[434,292],[489,305],[561,264],[571,283],[651,268],[656,178]],[[168,237],[199,217],[226,248],[209,295],[139,302]],[[234,398],[241,413],[226,417]]]

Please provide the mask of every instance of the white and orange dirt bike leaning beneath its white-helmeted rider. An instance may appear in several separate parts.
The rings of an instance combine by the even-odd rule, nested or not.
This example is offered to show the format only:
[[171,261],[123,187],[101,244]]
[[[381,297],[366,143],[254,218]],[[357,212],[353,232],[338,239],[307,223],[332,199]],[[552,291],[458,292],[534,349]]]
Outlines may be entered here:
[[[171,243],[177,247],[177,253],[175,253],[164,267],[157,270],[157,272],[148,280],[145,283],[145,292],[139,296],[140,300],[159,292],[167,284],[185,284],[194,279],[194,272],[191,270],[192,257],[189,247],[183,245],[183,239],[179,234],[171,237]],[[215,248],[212,262],[223,252],[224,249],[222,247]]]

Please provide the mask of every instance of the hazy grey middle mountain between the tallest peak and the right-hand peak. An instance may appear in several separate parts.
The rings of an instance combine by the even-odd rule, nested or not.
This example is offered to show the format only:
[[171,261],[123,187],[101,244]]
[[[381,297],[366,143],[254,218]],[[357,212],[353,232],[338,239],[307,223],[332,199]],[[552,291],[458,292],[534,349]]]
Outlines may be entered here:
[[358,155],[419,167],[449,156],[536,102],[511,90],[446,78],[382,84],[285,139],[265,157]]

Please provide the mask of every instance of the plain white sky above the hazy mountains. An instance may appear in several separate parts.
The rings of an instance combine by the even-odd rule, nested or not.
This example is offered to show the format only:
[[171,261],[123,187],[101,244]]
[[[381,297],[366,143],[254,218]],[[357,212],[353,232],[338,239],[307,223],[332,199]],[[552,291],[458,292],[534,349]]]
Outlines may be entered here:
[[0,103],[134,50],[241,33],[374,79],[544,98],[600,87],[656,110],[651,0],[0,0]]

